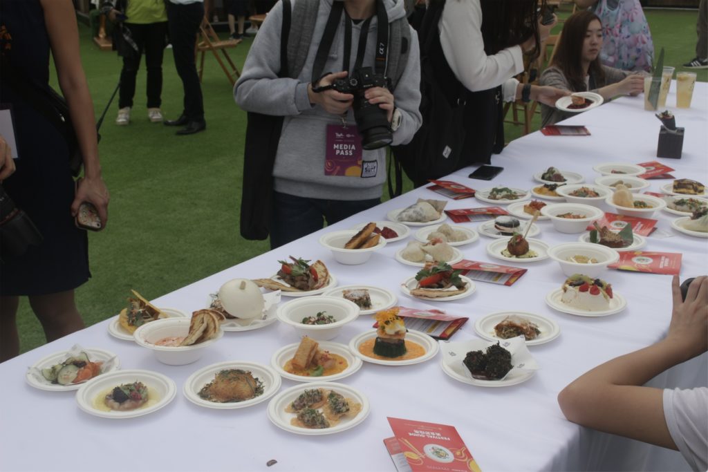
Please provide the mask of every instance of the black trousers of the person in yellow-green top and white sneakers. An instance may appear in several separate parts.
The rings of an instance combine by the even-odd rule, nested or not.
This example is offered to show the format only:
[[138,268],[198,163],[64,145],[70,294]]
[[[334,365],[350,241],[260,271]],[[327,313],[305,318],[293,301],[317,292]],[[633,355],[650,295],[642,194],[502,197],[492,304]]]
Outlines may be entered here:
[[140,67],[140,58],[145,53],[147,68],[147,108],[159,108],[162,95],[162,57],[165,50],[167,22],[125,23],[130,29],[132,40],[138,50],[130,49],[132,54],[123,57],[123,69],[120,71],[119,108],[132,107],[135,96],[135,77]]

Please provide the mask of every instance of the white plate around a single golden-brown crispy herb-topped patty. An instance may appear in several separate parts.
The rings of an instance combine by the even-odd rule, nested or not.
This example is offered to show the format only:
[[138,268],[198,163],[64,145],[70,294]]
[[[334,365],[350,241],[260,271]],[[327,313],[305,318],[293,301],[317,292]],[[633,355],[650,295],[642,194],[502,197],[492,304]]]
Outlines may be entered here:
[[[218,403],[201,398],[199,396],[199,391],[210,381],[214,380],[214,377],[218,372],[224,369],[241,369],[251,372],[256,379],[263,382],[263,393],[255,398],[251,398],[250,400],[232,403]],[[208,365],[207,367],[199,369],[197,372],[190,375],[185,381],[182,391],[187,400],[195,405],[203,406],[205,408],[215,408],[217,410],[234,410],[236,408],[253,406],[268,400],[268,398],[272,397],[276,392],[278,392],[278,390],[280,390],[281,382],[282,380],[280,379],[278,372],[275,372],[275,370],[266,365],[258,364],[258,362],[226,361]]]

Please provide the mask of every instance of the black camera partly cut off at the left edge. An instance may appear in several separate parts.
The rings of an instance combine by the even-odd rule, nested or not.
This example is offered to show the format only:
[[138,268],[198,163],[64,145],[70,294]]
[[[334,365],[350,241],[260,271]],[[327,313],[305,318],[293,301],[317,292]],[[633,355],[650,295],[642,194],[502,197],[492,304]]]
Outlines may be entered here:
[[16,207],[0,184],[0,260],[17,257],[30,244],[42,242],[42,234],[25,212]]

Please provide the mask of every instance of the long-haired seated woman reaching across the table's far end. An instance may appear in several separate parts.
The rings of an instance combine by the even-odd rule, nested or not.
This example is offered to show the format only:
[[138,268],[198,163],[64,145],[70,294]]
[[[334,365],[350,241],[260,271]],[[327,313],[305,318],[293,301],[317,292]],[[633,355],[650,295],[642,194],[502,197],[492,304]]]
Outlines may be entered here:
[[[540,84],[571,92],[592,91],[605,100],[644,91],[644,76],[600,64],[603,25],[590,11],[578,11],[566,20],[556,54],[541,74]],[[542,103],[542,125],[553,125],[571,114]]]

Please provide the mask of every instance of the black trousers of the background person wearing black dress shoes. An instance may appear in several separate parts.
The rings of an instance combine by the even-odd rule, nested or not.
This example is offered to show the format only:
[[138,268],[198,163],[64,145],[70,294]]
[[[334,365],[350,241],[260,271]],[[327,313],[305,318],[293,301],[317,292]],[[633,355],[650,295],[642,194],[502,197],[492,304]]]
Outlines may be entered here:
[[170,42],[175,57],[175,68],[184,88],[184,108],[182,114],[190,121],[204,120],[202,87],[197,74],[194,49],[197,44],[199,25],[204,18],[204,4],[178,5],[167,3]]

